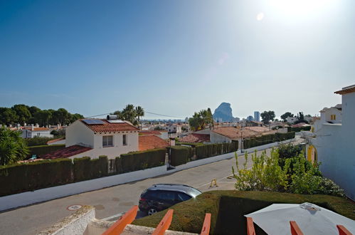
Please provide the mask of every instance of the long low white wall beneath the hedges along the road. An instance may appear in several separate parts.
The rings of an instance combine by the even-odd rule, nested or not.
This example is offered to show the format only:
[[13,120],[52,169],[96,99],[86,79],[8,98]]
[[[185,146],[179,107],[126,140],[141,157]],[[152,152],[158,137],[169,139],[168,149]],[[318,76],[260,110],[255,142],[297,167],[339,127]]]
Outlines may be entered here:
[[[248,152],[253,152],[255,150],[265,150],[270,147],[275,147],[280,144],[285,144],[287,142],[293,142],[296,139],[285,140],[283,142],[273,142],[268,145],[260,145],[258,147],[253,147],[248,150]],[[243,153],[238,150],[238,155]],[[128,182],[134,182],[140,179],[147,179],[151,177],[156,177],[162,174],[168,174],[171,172],[177,172],[182,169],[189,169],[192,167],[198,167],[203,164],[208,164],[211,162],[218,162],[221,160],[226,160],[234,157],[234,152],[230,152],[225,155],[218,155],[216,157],[207,157],[201,160],[196,160],[192,162],[187,162],[186,164],[182,164],[177,166],[175,169],[171,169],[167,171],[166,166],[154,167],[144,170],[139,170],[136,172],[128,172],[124,174],[116,174],[110,177],[102,177],[97,179],[85,180],[82,182],[76,182],[72,184],[65,184],[56,187],[49,187],[46,189],[38,189],[33,192],[23,192],[20,194],[12,194],[9,196],[0,197],[0,211],[4,211],[6,209],[13,209],[16,207],[23,207],[29,204],[34,204],[38,202],[46,202],[51,199],[57,199],[60,197],[68,197],[74,194],[80,194],[83,192],[89,192],[92,190],[102,189],[105,187],[111,187],[118,184],[124,184]]]

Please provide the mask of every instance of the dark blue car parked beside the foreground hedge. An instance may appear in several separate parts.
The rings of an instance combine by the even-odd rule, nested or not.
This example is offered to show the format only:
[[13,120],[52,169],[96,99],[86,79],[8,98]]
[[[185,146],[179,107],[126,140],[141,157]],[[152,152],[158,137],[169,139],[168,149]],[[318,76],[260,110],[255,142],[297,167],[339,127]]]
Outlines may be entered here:
[[200,191],[184,184],[154,184],[141,194],[139,210],[152,215],[199,194]]

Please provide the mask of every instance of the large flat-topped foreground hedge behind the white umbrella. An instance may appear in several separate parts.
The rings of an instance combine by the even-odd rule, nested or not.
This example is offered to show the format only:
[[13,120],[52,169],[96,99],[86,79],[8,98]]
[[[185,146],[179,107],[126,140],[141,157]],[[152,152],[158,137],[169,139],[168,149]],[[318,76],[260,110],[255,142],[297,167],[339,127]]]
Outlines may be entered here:
[[[287,194],[255,191],[210,191],[196,199],[174,205],[170,230],[200,233],[206,213],[211,213],[211,234],[246,234],[249,214],[274,203],[301,204],[310,202],[338,214],[355,219],[355,204],[349,199],[328,195]],[[132,224],[156,227],[165,211],[135,220]],[[259,229],[256,228],[257,234]],[[263,234],[263,233],[262,233]],[[264,233],[265,234],[265,233]]]

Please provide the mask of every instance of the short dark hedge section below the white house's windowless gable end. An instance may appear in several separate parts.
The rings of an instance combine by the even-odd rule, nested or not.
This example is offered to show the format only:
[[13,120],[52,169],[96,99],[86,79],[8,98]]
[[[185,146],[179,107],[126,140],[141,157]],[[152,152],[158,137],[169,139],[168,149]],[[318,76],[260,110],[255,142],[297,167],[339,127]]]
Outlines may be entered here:
[[74,158],[73,174],[75,182],[105,177],[108,174],[107,157],[98,159],[90,157]]

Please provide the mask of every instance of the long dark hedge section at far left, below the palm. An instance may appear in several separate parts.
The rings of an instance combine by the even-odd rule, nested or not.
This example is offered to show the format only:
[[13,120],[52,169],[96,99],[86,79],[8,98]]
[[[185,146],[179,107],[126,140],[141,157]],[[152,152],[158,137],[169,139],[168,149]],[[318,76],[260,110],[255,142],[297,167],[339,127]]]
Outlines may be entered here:
[[70,159],[43,160],[0,167],[0,196],[73,182]]

